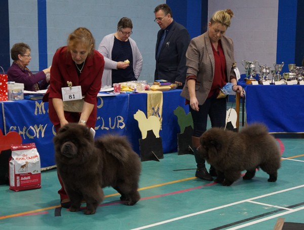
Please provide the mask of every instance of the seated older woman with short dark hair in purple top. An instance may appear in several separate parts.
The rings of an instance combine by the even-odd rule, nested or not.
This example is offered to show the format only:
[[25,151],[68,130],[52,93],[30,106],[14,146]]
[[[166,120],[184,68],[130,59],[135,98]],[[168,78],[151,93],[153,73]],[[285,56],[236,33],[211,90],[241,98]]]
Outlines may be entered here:
[[38,91],[47,88],[50,79],[46,74],[50,73],[50,68],[44,69],[36,74],[32,74],[26,67],[30,60],[30,47],[23,42],[16,43],[11,49],[13,64],[8,69],[8,81],[23,83],[24,89],[28,91]]

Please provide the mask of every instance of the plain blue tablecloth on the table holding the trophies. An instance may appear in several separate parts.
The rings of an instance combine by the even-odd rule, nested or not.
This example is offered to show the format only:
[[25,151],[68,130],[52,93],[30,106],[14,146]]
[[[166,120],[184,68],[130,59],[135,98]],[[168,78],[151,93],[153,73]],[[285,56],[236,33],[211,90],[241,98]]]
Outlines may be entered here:
[[247,123],[261,122],[272,133],[304,132],[304,85],[246,85]]

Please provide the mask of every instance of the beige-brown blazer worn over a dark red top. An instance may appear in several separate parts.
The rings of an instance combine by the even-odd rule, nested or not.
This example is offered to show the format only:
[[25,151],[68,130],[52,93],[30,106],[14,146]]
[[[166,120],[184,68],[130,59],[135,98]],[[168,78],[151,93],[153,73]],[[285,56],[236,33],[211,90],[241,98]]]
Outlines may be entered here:
[[[226,74],[228,82],[230,82],[230,76],[236,76],[232,67],[235,63],[233,41],[230,37],[226,36],[223,36],[220,40],[226,59]],[[215,66],[208,31],[191,40],[186,52],[186,66],[187,76],[195,75],[197,77],[195,86],[196,97],[199,105],[203,105],[211,89]],[[180,95],[190,100],[187,82]]]

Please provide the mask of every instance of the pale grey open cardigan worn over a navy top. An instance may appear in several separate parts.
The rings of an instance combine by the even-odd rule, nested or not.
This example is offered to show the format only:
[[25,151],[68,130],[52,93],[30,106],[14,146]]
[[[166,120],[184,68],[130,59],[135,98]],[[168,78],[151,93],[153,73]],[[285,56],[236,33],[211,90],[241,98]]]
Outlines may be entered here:
[[[142,68],[142,57],[137,48],[136,42],[128,38],[133,54],[133,71],[135,78],[138,79]],[[112,49],[114,44],[114,33],[106,35],[99,44],[98,52],[104,58],[104,70],[101,79],[101,86],[112,86],[112,69],[117,69],[117,62],[112,61]]]

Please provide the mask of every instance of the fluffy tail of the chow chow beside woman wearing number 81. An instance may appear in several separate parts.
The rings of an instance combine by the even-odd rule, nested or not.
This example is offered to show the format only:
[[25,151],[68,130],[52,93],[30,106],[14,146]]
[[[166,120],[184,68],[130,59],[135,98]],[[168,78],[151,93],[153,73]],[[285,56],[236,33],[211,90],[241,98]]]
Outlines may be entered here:
[[128,155],[133,152],[136,154],[125,136],[105,135],[95,141],[95,145],[104,148],[108,153],[113,155],[121,162],[128,160]]

